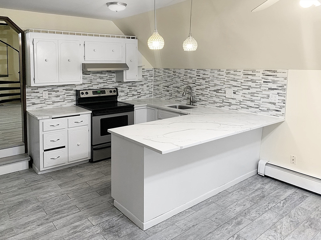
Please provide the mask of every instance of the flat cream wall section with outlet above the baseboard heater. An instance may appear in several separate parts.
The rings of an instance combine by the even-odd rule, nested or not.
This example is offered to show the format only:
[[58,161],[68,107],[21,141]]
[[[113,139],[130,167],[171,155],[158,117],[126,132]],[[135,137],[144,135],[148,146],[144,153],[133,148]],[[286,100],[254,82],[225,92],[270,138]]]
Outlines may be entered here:
[[320,92],[320,70],[289,70],[286,120],[263,129],[260,159],[321,178]]

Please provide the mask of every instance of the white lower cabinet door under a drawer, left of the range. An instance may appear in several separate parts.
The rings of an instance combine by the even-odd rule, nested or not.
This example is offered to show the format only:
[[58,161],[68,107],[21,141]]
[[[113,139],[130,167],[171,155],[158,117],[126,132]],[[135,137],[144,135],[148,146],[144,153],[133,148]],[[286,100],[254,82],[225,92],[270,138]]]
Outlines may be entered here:
[[88,126],[68,129],[68,162],[89,157]]

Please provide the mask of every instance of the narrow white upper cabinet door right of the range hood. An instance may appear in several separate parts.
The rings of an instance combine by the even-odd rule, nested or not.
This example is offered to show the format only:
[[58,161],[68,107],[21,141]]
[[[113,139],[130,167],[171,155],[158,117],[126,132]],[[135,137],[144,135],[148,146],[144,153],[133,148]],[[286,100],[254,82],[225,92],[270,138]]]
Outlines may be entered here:
[[[126,43],[126,63],[129,70],[126,70],[126,80],[136,80],[137,79],[137,44],[136,43]],[[125,80],[125,79],[124,79]]]

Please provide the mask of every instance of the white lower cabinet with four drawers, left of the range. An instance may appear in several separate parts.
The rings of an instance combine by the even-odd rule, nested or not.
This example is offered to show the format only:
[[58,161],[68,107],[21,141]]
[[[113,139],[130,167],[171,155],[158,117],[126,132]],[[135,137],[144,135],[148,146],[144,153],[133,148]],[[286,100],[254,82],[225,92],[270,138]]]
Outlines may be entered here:
[[91,116],[38,120],[28,116],[29,154],[40,174],[91,158]]

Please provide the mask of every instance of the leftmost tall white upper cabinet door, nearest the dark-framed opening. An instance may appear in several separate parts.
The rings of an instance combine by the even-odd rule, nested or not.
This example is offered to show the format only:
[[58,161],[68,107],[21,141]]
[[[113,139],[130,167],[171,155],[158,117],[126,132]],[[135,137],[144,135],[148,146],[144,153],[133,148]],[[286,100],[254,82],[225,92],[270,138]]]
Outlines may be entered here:
[[58,83],[58,40],[33,39],[35,83]]

